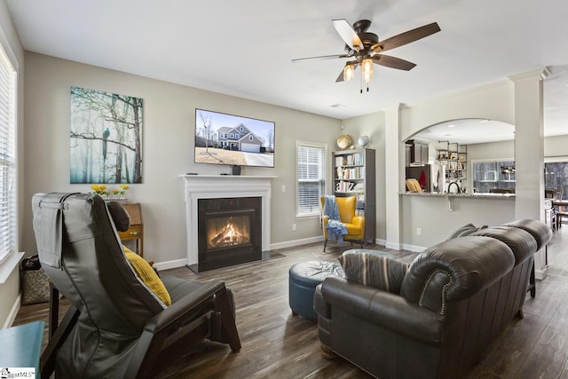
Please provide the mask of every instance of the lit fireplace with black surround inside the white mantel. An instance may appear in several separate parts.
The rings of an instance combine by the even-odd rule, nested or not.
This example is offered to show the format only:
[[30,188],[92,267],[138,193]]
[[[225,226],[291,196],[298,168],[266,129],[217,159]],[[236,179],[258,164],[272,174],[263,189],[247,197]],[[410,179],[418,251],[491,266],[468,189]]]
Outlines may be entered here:
[[199,199],[197,209],[200,272],[262,259],[262,198]]

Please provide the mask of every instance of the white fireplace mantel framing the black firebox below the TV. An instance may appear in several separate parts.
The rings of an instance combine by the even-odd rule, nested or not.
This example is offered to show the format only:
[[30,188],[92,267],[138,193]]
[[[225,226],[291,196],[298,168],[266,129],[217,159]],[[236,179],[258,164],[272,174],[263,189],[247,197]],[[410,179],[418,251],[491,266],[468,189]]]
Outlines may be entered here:
[[185,179],[187,265],[198,264],[197,201],[229,197],[262,198],[262,249],[270,249],[271,180],[268,176],[180,175]]

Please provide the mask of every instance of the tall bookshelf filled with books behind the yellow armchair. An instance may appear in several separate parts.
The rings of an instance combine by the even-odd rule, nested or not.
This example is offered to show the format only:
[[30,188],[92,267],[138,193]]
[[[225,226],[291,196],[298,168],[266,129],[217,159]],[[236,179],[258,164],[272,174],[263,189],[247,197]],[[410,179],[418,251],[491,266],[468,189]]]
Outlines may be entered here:
[[353,149],[332,153],[334,162],[333,194],[357,196],[357,215],[365,216],[365,241],[375,243],[376,191],[375,150]]

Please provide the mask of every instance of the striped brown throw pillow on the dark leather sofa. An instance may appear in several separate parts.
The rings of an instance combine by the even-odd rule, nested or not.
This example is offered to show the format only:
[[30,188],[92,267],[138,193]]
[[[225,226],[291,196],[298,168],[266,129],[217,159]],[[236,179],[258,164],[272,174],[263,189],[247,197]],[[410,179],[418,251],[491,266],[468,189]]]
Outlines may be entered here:
[[393,294],[400,293],[400,286],[409,266],[390,257],[367,253],[345,252],[338,260],[347,280]]

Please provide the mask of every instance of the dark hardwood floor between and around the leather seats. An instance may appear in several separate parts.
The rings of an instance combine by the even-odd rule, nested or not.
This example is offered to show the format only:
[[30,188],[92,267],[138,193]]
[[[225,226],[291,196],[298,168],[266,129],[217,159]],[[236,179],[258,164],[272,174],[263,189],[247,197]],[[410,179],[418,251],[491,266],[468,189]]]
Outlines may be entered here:
[[[551,263],[537,296],[527,295],[525,319],[515,320],[485,352],[468,378],[568,378],[568,225],[548,245]],[[375,246],[375,249],[383,249]],[[219,343],[201,343],[162,372],[163,378],[369,378],[343,359],[327,360],[319,352],[317,325],[293,317],[288,307],[288,269],[306,260],[334,261],[343,247],[322,244],[282,249],[283,257],[195,274],[184,268],[161,272],[190,280],[225,280],[237,304],[241,352]],[[395,252],[393,252],[395,253]],[[396,252],[410,261],[413,253]],[[61,304],[61,317],[67,309]],[[14,325],[47,321],[47,304],[22,305]],[[47,341],[47,332],[44,343]]]

